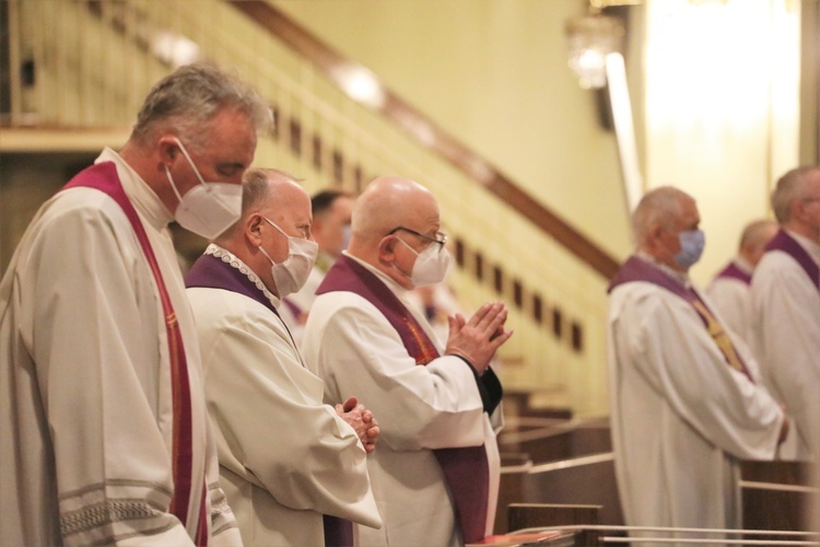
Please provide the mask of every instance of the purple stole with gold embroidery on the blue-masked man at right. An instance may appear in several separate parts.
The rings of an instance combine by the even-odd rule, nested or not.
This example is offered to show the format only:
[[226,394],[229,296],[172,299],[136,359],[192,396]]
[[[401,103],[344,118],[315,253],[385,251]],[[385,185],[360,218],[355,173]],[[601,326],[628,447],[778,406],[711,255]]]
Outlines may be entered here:
[[754,379],[751,377],[740,353],[737,352],[735,345],[731,344],[731,338],[729,338],[729,335],[726,334],[721,323],[708,309],[706,303],[701,300],[701,296],[694,289],[687,289],[683,284],[664,274],[664,271],[656,266],[646,260],[642,260],[636,256],[631,256],[623,266],[621,266],[621,269],[618,270],[614,278],[612,278],[607,292],[611,292],[616,287],[631,281],[645,281],[647,283],[657,284],[689,302],[698,313],[698,316],[703,321],[703,326],[706,327],[706,330],[715,341],[717,349],[721,350],[721,353],[723,353],[723,357],[729,366],[743,373],[750,382],[754,383]]

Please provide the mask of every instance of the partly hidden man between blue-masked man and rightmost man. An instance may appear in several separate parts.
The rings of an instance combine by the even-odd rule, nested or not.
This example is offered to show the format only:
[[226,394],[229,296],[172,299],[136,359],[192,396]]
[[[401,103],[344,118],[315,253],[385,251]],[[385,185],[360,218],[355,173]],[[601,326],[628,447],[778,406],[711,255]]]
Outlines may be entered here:
[[726,327],[740,335],[747,345],[753,337],[751,278],[763,257],[766,243],[777,233],[773,220],[755,220],[743,228],[737,256],[706,287],[706,295],[726,321]]

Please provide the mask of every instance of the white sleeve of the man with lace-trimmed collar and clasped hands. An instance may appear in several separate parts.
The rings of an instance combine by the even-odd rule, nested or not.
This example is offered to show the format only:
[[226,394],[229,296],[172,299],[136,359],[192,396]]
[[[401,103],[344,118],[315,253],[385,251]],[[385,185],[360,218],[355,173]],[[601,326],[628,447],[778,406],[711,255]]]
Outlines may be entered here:
[[[282,505],[379,526],[364,447],[323,403],[321,381],[302,365],[281,321],[227,291],[188,294],[200,330],[209,411],[230,450],[220,454],[222,465]],[[237,298],[254,305],[234,306]]]

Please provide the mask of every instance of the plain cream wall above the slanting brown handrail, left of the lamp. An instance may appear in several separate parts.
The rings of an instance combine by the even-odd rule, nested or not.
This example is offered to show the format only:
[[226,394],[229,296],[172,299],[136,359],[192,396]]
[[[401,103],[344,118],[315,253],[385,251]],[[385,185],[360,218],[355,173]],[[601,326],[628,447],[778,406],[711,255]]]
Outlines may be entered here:
[[[614,138],[566,67],[576,0],[274,0],[616,257]],[[477,190],[480,191],[480,190]]]

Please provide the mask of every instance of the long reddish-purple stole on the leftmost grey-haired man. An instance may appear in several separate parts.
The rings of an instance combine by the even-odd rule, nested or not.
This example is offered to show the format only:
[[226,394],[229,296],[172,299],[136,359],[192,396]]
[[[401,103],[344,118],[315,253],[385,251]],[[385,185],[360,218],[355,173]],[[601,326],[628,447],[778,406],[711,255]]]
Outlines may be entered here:
[[[103,162],[92,165],[80,172],[63,188],[86,187],[97,189],[109,196],[121,209],[133,228],[137,240],[142,247],[148,266],[153,275],[156,290],[160,293],[163,315],[165,317],[165,330],[168,340],[168,358],[171,360],[171,386],[174,408],[174,432],[172,444],[172,464],[174,477],[174,494],[171,500],[171,512],[179,519],[184,526],[187,524],[188,505],[194,486],[192,459],[194,459],[194,429],[191,416],[190,385],[188,380],[188,363],[183,346],[183,334],[179,330],[171,295],[165,287],[165,281],[160,271],[160,265],[151,247],[145,229],[140,221],[137,210],[131,205],[122,184],[117,175],[117,166],[114,162]],[[206,510],[206,484],[202,480],[202,497],[199,507],[199,522],[197,525],[197,545],[208,545],[208,519],[210,515]]]

